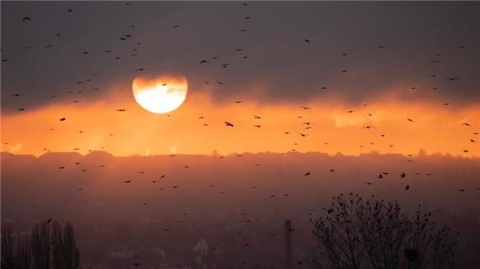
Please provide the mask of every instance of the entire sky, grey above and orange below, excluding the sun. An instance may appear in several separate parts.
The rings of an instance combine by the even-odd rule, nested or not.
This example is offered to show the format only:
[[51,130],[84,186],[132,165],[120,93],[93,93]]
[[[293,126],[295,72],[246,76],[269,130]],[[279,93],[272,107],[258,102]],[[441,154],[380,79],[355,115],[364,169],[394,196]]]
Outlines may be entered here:
[[[2,151],[480,156],[479,12],[475,2],[2,2]],[[187,99],[148,112],[132,95],[143,76],[185,78]]]

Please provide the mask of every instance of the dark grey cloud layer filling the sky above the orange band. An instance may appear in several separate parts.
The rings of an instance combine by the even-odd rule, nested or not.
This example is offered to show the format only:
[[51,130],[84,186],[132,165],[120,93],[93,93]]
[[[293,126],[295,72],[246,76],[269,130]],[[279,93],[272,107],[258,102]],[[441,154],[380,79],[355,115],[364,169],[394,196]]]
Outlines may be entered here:
[[140,67],[182,73],[190,91],[217,99],[260,88],[262,101],[334,93],[361,102],[404,86],[418,98],[436,87],[439,98],[478,102],[479,13],[471,2],[2,2],[3,111],[74,99],[68,91],[95,99],[113,83],[131,91]]

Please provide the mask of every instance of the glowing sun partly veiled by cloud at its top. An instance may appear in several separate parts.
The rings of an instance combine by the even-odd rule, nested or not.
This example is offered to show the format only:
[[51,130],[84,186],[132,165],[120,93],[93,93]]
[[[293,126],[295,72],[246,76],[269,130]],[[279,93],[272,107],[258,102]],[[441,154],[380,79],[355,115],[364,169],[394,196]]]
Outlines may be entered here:
[[177,109],[185,101],[188,83],[185,76],[136,77],[132,91],[141,107],[152,113],[164,114]]

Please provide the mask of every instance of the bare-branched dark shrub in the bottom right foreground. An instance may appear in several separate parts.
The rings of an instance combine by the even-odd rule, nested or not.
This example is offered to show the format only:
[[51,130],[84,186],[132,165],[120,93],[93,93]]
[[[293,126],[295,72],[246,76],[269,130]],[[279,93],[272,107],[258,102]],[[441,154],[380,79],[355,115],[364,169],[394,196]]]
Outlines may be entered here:
[[409,216],[398,202],[372,195],[332,198],[325,216],[316,220],[313,264],[335,269],[452,268],[457,241],[421,206]]

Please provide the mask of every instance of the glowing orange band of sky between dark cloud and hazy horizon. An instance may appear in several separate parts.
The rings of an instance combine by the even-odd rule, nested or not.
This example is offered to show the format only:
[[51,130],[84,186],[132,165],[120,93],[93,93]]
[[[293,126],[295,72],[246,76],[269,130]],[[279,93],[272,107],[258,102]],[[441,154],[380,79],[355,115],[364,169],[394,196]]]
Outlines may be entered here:
[[[236,104],[235,100],[213,101],[210,94],[199,93],[208,91],[189,91],[177,110],[170,115],[156,115],[141,108],[128,89],[116,87],[108,92],[98,100],[71,103],[64,99],[36,110],[2,115],[2,151],[41,155],[46,150],[65,152],[80,148],[76,151],[81,154],[102,149],[114,155],[143,155],[295,149],[329,154],[372,150],[417,154],[422,148],[429,154],[480,156],[480,138],[474,134],[478,131],[480,105],[444,106],[439,100],[406,103],[398,101],[396,91],[387,91],[390,93],[370,100],[367,106],[357,107],[342,105],[335,97],[260,105],[252,97],[244,96],[238,97],[242,103]],[[304,110],[303,106],[312,109]],[[117,112],[119,108],[127,111]],[[354,112],[348,113],[349,110]],[[262,119],[255,120],[253,115]],[[300,115],[302,118],[298,118]],[[199,120],[200,116],[204,119]],[[60,122],[61,117],[67,120]],[[412,118],[413,123],[407,118]],[[235,127],[225,127],[225,121]],[[308,125],[304,122],[311,123],[312,128],[305,130]],[[462,122],[472,126],[462,126]],[[261,127],[253,127],[256,124]],[[290,134],[284,134],[285,131]],[[308,136],[301,137],[300,133]],[[470,138],[476,142],[470,142]],[[464,149],[469,152],[463,153]]]

